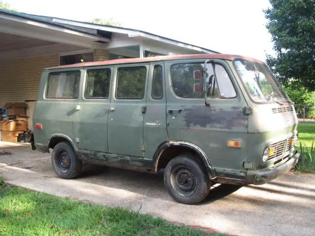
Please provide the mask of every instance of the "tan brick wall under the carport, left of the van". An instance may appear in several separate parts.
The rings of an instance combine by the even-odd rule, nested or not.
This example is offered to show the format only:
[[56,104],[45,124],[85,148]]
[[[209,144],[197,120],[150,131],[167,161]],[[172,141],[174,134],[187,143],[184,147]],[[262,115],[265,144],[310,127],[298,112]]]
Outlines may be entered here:
[[[0,61],[0,107],[7,102],[36,100],[42,69],[58,65],[58,54]],[[34,102],[29,102],[32,127]]]

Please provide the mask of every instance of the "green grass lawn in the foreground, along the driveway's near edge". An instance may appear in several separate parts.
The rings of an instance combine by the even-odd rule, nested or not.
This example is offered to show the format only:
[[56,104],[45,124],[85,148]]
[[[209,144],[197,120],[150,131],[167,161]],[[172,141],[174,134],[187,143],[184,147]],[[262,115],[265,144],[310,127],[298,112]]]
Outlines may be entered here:
[[[209,235],[160,218],[5,186],[0,179],[0,236]],[[217,234],[217,236],[219,236]]]

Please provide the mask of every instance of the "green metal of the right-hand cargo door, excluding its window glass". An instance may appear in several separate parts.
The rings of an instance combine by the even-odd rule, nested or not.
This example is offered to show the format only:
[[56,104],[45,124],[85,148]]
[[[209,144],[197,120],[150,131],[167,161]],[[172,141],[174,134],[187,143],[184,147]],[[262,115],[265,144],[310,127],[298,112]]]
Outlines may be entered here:
[[[127,64],[114,67],[112,98],[108,112],[108,149],[110,153],[142,157],[143,153],[143,107],[146,106],[147,81],[149,63]],[[146,82],[143,98],[118,99],[116,94],[117,74],[120,68],[144,67],[146,69]]]

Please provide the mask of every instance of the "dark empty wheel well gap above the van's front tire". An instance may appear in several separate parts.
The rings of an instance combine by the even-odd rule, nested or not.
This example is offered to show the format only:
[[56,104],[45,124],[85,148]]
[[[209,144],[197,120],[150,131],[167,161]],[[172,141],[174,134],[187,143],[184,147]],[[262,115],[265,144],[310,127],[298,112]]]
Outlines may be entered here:
[[160,157],[158,158],[157,163],[157,171],[160,169],[164,169],[168,162],[175,158],[176,156],[182,155],[184,153],[189,153],[195,158],[197,158],[199,161],[201,161],[202,164],[204,164],[203,160],[201,159],[201,156],[193,149],[186,148],[186,147],[169,147],[163,150]]

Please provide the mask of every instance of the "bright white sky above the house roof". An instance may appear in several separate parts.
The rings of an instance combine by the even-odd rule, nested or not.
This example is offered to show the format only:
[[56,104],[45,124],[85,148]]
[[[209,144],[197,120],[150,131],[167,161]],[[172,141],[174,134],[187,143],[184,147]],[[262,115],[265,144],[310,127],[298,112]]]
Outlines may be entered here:
[[138,29],[226,54],[275,55],[265,27],[268,0],[2,0],[20,12],[77,21],[112,18]]

